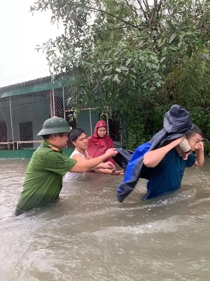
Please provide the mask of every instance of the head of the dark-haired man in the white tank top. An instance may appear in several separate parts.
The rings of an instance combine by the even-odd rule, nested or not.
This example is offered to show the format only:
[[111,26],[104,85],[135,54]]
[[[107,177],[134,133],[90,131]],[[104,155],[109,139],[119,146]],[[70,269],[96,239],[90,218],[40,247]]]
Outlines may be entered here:
[[88,139],[83,129],[78,128],[78,129],[71,130],[69,134],[69,140],[70,143],[72,143],[75,147],[81,149],[88,148]]

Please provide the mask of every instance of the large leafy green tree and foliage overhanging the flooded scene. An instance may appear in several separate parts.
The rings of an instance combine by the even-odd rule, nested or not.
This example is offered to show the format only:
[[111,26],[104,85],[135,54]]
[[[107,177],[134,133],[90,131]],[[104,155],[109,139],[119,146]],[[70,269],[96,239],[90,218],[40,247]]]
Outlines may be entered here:
[[127,118],[127,147],[162,127],[178,103],[210,137],[207,0],[37,0],[63,34],[43,46],[52,74],[73,75],[71,103]]

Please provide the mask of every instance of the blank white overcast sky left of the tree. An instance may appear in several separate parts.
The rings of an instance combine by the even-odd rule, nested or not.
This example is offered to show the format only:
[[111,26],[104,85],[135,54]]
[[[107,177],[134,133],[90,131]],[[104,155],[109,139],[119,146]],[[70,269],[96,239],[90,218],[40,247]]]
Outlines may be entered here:
[[42,51],[35,50],[59,35],[51,13],[29,12],[36,0],[0,0],[0,87],[50,75]]

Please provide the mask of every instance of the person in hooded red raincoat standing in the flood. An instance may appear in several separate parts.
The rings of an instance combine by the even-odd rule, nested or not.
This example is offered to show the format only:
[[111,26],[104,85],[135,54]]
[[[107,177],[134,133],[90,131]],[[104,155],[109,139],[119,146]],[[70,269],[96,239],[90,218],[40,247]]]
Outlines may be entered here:
[[[103,155],[109,148],[113,148],[114,143],[110,136],[107,135],[107,125],[104,120],[98,121],[95,126],[93,136],[88,138],[88,154],[92,157],[98,157]],[[111,161],[115,164],[115,161],[111,159],[107,159],[107,161]]]

